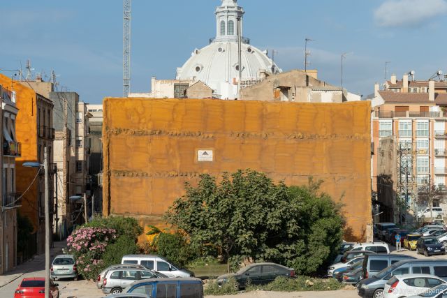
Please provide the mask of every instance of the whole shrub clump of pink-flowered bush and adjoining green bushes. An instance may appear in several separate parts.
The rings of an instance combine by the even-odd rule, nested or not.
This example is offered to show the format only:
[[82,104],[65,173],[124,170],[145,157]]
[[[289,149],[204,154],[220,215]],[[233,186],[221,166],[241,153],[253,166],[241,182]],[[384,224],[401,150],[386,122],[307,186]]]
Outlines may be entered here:
[[75,257],[79,274],[94,279],[105,267],[119,264],[123,255],[138,253],[136,241],[141,233],[135,218],[94,218],[67,238],[68,251]]

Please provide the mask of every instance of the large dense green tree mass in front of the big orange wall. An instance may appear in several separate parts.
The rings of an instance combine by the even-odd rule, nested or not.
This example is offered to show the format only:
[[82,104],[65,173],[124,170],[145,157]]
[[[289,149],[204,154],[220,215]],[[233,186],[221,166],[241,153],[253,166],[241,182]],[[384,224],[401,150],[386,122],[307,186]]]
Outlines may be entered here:
[[165,218],[199,251],[216,248],[228,271],[249,260],[313,275],[335,257],[344,221],[340,206],[319,191],[321,181],[288,188],[251,170],[220,180],[203,174],[198,186],[186,184]]

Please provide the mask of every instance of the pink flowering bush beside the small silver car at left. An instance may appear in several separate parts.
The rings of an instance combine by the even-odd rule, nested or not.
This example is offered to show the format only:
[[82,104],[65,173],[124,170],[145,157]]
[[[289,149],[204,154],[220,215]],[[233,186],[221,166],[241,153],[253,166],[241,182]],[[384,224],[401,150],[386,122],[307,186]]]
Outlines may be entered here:
[[103,254],[116,238],[115,229],[101,227],[79,228],[68,236],[68,252],[74,255],[81,276],[85,279],[96,278],[103,268]]

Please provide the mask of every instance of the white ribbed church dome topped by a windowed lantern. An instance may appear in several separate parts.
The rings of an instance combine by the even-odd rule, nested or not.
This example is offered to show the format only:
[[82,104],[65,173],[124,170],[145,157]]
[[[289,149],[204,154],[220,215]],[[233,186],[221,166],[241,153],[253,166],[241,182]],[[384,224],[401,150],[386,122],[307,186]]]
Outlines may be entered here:
[[[188,61],[181,68],[177,68],[177,80],[200,80],[213,89],[214,96],[218,98],[237,98],[237,19],[241,19],[242,28],[243,14],[244,10],[237,6],[236,0],[223,0],[222,5],[216,9],[216,38],[210,40],[210,45],[194,50]],[[273,64],[266,52],[250,45],[248,38],[242,38],[241,64],[241,83],[260,80],[261,73],[282,71]]]

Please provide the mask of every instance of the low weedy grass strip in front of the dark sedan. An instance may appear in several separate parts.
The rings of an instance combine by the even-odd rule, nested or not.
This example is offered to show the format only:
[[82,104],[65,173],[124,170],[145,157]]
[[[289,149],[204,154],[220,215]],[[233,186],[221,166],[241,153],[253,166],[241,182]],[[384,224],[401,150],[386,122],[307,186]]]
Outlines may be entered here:
[[302,292],[302,291],[332,291],[344,288],[335,278],[310,278],[298,276],[297,278],[286,278],[278,276],[272,283],[267,285],[249,285],[247,291],[277,291],[277,292]]

